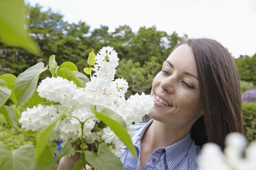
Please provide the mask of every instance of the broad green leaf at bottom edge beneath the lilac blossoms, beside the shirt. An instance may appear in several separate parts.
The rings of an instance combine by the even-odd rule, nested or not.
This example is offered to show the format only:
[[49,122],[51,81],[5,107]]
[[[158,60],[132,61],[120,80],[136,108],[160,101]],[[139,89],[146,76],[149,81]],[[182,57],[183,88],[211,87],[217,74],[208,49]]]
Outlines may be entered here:
[[92,151],[85,151],[85,159],[97,170],[120,170],[123,169],[122,162],[113,154],[105,143],[100,143],[98,154]]

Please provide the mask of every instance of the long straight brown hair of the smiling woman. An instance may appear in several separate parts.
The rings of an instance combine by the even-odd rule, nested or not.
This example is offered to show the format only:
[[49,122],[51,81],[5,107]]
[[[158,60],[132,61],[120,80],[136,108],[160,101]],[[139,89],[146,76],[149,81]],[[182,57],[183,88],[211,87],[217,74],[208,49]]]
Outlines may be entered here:
[[[209,38],[189,39],[195,56],[204,115],[191,129],[197,145],[211,142],[224,148],[230,132],[243,132],[242,104],[237,68],[231,54]],[[178,45],[179,46],[179,45]]]

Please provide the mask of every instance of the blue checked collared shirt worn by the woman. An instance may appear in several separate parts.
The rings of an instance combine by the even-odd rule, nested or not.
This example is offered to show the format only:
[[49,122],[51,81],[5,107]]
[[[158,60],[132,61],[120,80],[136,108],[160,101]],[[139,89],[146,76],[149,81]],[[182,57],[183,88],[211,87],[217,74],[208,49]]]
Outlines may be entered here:
[[[140,148],[141,148],[141,138],[147,130],[147,127],[152,123],[151,119],[147,123],[139,123],[134,126],[134,135],[131,137],[134,146],[137,151],[137,158],[131,154],[127,147],[123,147],[123,153],[120,156],[120,160],[124,165],[124,170],[140,170]],[[191,135],[188,134],[182,140],[174,143],[165,148],[158,148],[153,151],[153,154],[149,156],[149,159],[145,163],[145,166],[142,170],[171,170],[171,169],[197,169],[196,157],[200,152],[200,147],[195,145],[194,141],[191,138]]]

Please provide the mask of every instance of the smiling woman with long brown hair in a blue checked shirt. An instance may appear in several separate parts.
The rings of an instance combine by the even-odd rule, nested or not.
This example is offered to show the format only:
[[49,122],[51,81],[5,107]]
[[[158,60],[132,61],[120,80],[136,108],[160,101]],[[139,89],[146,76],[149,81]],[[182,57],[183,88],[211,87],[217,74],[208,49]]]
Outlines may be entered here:
[[[196,169],[204,143],[224,147],[230,132],[243,132],[239,78],[230,53],[207,38],[181,42],[152,83],[155,106],[148,123],[135,125],[138,160],[127,148],[125,170]],[[79,158],[61,160],[61,167]]]

